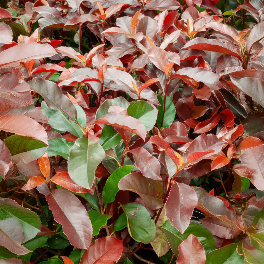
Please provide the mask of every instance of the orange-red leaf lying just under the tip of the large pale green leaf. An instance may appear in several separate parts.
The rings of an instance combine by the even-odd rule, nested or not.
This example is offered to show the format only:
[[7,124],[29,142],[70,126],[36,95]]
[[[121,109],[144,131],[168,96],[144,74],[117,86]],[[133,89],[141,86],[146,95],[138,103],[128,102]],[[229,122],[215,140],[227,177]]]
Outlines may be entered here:
[[77,193],[84,193],[84,192],[90,192],[91,190],[86,189],[78,184],[76,184],[74,181],[69,176],[68,172],[58,172],[56,173],[51,180],[57,185],[60,185],[72,192],[77,192]]

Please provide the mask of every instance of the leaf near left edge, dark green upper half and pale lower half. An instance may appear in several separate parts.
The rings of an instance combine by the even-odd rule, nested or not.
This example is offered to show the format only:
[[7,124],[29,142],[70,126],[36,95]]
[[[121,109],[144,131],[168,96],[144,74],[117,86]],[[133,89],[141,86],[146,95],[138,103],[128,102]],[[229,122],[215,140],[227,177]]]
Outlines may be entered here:
[[48,145],[40,140],[20,135],[12,135],[6,138],[4,143],[11,153],[13,162],[21,159],[29,163],[41,157],[48,148]]

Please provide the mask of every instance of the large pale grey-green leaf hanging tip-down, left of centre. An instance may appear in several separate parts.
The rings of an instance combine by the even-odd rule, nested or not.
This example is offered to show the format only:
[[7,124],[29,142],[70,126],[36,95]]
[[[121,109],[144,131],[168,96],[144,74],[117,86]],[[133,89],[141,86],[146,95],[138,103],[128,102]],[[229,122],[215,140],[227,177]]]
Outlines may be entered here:
[[71,179],[78,185],[91,189],[95,170],[105,158],[104,149],[99,143],[78,138],[70,150],[68,172]]

